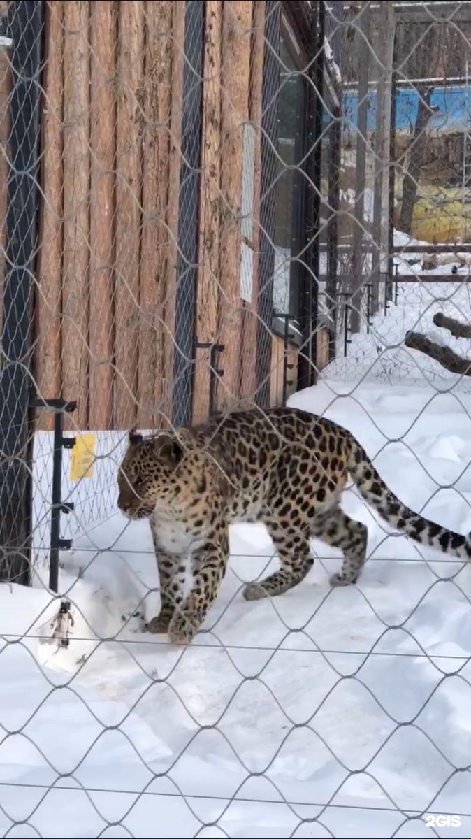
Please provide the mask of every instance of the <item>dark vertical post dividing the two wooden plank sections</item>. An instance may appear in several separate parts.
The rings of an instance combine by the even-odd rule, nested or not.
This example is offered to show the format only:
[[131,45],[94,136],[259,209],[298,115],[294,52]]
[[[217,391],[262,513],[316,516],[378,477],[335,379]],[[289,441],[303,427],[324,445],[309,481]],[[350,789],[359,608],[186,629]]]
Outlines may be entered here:
[[193,395],[205,5],[200,0],[186,0],[185,8],[179,257],[175,294],[173,425],[187,425],[189,423]]

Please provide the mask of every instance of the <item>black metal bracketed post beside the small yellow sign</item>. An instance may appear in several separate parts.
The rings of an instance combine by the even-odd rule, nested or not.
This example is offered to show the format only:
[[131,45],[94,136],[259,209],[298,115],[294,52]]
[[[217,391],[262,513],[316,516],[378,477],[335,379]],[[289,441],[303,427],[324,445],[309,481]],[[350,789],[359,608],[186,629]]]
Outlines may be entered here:
[[64,436],[64,414],[75,411],[77,403],[66,399],[43,399],[35,397],[31,402],[32,408],[49,408],[54,410],[54,455],[52,473],[52,505],[50,523],[49,549],[49,588],[59,591],[59,554],[61,550],[70,550],[72,539],[62,539],[60,536],[60,513],[71,513],[74,504],[62,501],[62,451],[73,449],[75,437]]

